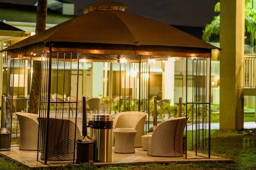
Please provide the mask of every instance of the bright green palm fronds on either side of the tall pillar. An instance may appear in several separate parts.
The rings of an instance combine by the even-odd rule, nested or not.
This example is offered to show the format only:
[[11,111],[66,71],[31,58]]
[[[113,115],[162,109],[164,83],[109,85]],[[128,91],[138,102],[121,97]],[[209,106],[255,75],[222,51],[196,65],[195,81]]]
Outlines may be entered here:
[[[252,38],[256,38],[256,9],[253,8],[256,0],[245,0],[245,31],[251,33]],[[220,2],[217,2],[214,6],[214,12],[220,12]],[[220,35],[220,14],[215,16],[210,24],[206,24],[203,30],[202,40],[209,42],[211,36]],[[253,42],[253,40],[251,41]]]

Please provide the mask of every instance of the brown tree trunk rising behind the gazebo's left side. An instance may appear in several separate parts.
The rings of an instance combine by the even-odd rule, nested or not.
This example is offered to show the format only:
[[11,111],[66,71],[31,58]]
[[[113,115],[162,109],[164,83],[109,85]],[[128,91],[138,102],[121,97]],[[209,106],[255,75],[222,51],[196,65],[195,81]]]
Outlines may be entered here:
[[[47,0],[38,0],[36,13],[36,34],[46,29]],[[33,61],[32,83],[29,97],[28,112],[37,114],[39,111],[42,82],[42,62]]]

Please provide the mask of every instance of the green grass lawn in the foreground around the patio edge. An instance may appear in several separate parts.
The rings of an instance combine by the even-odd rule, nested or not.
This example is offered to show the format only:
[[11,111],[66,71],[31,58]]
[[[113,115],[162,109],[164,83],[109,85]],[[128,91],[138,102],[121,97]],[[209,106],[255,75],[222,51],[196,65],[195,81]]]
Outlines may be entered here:
[[[190,131],[191,133],[192,131]],[[188,140],[190,140],[188,138]],[[256,134],[240,131],[211,130],[211,155],[220,156],[234,160],[234,164],[227,163],[188,163],[188,164],[138,164],[122,166],[102,166],[96,167],[93,164],[84,163],[75,167],[72,164],[62,166],[58,169],[78,169],[78,170],[166,170],[166,169],[256,169]],[[0,169],[28,169],[26,166],[20,165],[18,162],[0,157]]]

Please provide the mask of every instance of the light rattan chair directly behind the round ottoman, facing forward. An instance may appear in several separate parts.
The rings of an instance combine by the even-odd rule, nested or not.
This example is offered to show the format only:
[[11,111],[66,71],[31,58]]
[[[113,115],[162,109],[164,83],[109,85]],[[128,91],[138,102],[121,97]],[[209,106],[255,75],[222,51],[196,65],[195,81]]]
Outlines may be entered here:
[[[113,121],[113,130],[115,130],[115,128],[134,128],[137,131],[134,146],[142,147],[141,136],[144,135],[146,115],[147,113],[139,111],[117,113]],[[114,134],[112,142],[112,145],[114,146]]]

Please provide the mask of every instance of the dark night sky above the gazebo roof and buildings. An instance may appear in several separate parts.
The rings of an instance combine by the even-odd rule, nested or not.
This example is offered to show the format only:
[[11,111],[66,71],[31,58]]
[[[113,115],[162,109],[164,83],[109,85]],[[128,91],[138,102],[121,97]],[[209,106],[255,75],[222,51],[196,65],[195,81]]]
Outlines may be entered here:
[[[75,4],[75,15],[78,9],[97,2],[98,0],[65,0]],[[176,26],[204,27],[213,17],[214,5],[219,0],[114,0],[132,6],[127,12],[146,16],[165,24]],[[34,5],[37,0],[0,0],[15,4]]]

